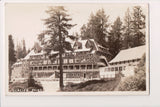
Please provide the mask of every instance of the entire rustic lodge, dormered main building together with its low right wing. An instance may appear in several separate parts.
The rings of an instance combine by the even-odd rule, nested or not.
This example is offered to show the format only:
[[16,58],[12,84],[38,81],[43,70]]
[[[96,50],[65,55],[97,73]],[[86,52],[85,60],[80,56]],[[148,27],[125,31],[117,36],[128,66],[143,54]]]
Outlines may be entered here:
[[[134,69],[146,52],[146,46],[121,50],[109,63],[106,59],[108,50],[93,39],[77,40],[73,43],[74,51],[66,51],[63,57],[64,80],[90,80],[115,78],[116,74],[134,75]],[[57,54],[52,51],[50,54]],[[24,80],[32,73],[35,79],[58,80],[59,56],[52,60],[42,50],[32,50],[25,58],[12,66],[12,81]]]

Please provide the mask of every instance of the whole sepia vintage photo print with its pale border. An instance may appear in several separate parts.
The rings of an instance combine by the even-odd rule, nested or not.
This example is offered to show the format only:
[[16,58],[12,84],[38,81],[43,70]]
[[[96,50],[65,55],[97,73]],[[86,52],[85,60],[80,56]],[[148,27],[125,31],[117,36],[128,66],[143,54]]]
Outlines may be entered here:
[[148,95],[148,4],[6,3],[6,95]]

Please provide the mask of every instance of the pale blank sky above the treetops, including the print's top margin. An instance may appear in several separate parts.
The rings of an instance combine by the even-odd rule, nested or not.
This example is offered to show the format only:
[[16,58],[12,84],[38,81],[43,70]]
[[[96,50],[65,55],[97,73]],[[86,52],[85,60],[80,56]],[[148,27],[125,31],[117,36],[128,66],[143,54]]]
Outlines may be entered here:
[[122,20],[127,8],[132,11],[133,6],[141,6],[147,14],[146,4],[44,4],[44,3],[7,3],[5,4],[5,36],[12,35],[15,46],[17,41],[25,40],[26,48],[32,48],[37,41],[37,35],[45,28],[42,19],[48,17],[46,10],[49,6],[64,6],[72,18],[70,23],[77,24],[69,33],[80,32],[83,24],[88,22],[90,14],[104,9],[109,15],[109,22],[113,23],[119,16]]

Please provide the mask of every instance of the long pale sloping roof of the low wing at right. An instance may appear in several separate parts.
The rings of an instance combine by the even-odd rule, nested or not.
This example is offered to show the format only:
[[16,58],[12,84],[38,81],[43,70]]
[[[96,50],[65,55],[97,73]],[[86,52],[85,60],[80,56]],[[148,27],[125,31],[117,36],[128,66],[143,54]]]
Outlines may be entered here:
[[115,58],[109,63],[115,63],[120,61],[128,61],[133,59],[140,59],[146,52],[146,46],[138,46],[130,49],[121,50]]

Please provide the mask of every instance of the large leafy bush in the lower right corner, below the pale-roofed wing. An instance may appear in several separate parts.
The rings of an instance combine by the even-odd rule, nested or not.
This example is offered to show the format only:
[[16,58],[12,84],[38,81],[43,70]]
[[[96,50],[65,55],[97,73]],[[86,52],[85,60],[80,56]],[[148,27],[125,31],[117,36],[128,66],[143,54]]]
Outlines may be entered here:
[[120,82],[119,91],[145,91],[146,90],[146,70],[145,55],[135,69],[135,75],[125,78]]

